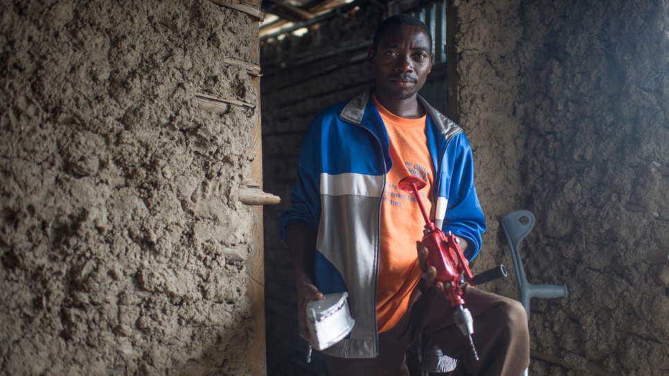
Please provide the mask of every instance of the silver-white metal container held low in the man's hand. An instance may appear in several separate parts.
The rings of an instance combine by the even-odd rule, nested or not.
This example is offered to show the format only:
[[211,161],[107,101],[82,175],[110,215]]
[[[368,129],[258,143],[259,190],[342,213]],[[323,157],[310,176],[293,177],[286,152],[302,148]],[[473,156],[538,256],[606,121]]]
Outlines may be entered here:
[[325,350],[344,339],[354,323],[348,308],[348,292],[328,294],[320,301],[307,303],[310,343],[316,350]]

